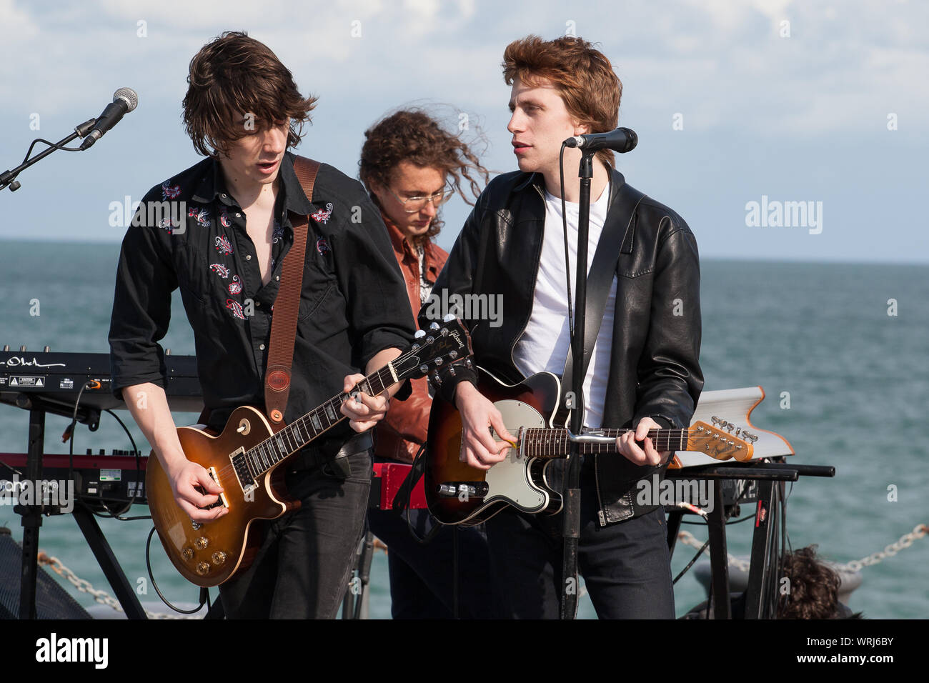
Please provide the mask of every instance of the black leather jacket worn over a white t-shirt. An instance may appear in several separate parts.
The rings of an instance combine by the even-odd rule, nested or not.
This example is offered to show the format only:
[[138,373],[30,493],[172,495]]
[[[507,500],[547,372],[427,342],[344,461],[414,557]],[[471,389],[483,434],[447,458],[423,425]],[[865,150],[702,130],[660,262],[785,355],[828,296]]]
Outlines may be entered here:
[[[612,171],[607,222],[625,180]],[[530,319],[542,253],[545,208],[543,177],[521,171],[494,178],[480,195],[438,276],[433,296],[503,296],[502,323],[465,321],[477,364],[498,377],[523,377],[513,348]],[[605,227],[606,230],[606,227]],[[428,305],[420,311],[428,322]],[[443,311],[444,312],[444,311]],[[633,427],[651,417],[662,427],[684,428],[703,387],[700,355],[700,263],[687,223],[667,206],[645,197],[625,230],[617,266],[616,309],[604,427]],[[440,390],[451,401],[459,372]],[[621,455],[598,455],[595,472],[600,524],[653,510],[639,505],[635,482],[664,473],[636,466]],[[656,493],[657,494],[657,493]]]

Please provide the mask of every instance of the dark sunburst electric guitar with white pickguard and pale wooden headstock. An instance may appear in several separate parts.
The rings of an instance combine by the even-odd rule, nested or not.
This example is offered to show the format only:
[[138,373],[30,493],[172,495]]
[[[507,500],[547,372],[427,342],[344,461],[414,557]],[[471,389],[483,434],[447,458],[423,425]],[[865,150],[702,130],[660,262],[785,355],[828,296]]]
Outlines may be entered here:
[[[507,431],[517,437],[516,446],[509,449],[505,460],[486,471],[460,462],[461,415],[437,396],[426,440],[429,512],[442,524],[463,526],[490,519],[506,506],[529,513],[556,513],[561,509],[561,493],[546,475],[554,474],[549,471],[553,459],[567,455],[570,439],[568,429],[555,425],[561,396],[558,377],[538,373],[517,385],[506,385],[478,368],[478,390],[503,415]],[[627,431],[587,431],[580,439],[581,453],[618,454],[616,439]],[[718,460],[739,461],[752,457],[752,440],[757,439],[744,431],[733,436],[703,422],[689,429],[652,429],[648,437],[658,451],[698,451]],[[589,442],[597,438],[600,442]]]

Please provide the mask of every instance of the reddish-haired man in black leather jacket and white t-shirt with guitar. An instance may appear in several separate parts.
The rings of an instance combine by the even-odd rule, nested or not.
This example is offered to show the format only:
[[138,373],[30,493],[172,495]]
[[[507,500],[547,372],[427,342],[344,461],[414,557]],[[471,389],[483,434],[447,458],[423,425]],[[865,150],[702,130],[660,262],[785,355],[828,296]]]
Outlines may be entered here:
[[[480,195],[432,296],[466,304],[459,312],[471,314],[465,322],[474,360],[515,384],[543,371],[561,375],[565,368],[566,280],[573,291],[581,152],[565,151],[562,204],[559,151],[566,138],[617,126],[622,85],[606,56],[575,37],[517,40],[506,47],[503,66],[512,85],[507,130],[519,170],[494,178]],[[663,473],[670,456],[655,449],[649,429],[686,428],[703,386],[697,244],[681,217],[648,197],[629,212],[619,208],[629,190],[613,168],[612,152],[598,151],[594,167],[588,268],[601,235],[618,228],[621,247],[607,255],[615,272],[606,280],[602,321],[586,320],[599,332],[585,374],[584,424],[635,431],[619,438],[620,454],[584,456],[579,567],[601,618],[673,619],[664,512],[657,504],[641,505],[635,484]],[[502,324],[474,315],[481,310],[471,305],[476,297],[499,298]],[[434,317],[435,302],[420,311],[421,320]],[[504,424],[478,392],[476,373],[456,370],[446,374],[440,391],[461,415],[461,459],[488,470],[508,457],[521,426]],[[473,493],[480,493],[477,487]],[[486,528],[507,614],[556,617],[565,586],[560,515],[509,507]]]

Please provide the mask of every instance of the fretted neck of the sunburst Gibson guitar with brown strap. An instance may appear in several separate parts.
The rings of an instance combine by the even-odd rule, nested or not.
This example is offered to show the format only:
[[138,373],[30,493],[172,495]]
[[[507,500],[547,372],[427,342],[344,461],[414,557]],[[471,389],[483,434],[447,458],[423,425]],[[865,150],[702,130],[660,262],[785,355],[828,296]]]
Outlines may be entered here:
[[[356,387],[368,394],[377,396],[387,387],[399,382],[393,363],[387,363],[380,370],[369,374],[361,380]],[[283,427],[268,439],[261,441],[254,448],[245,452],[245,457],[255,473],[267,472],[271,467],[278,465],[285,458],[293,455],[310,441],[320,437],[323,432],[346,419],[342,414],[342,404],[350,394],[342,392],[336,394],[329,401],[298,417],[287,427]]]

